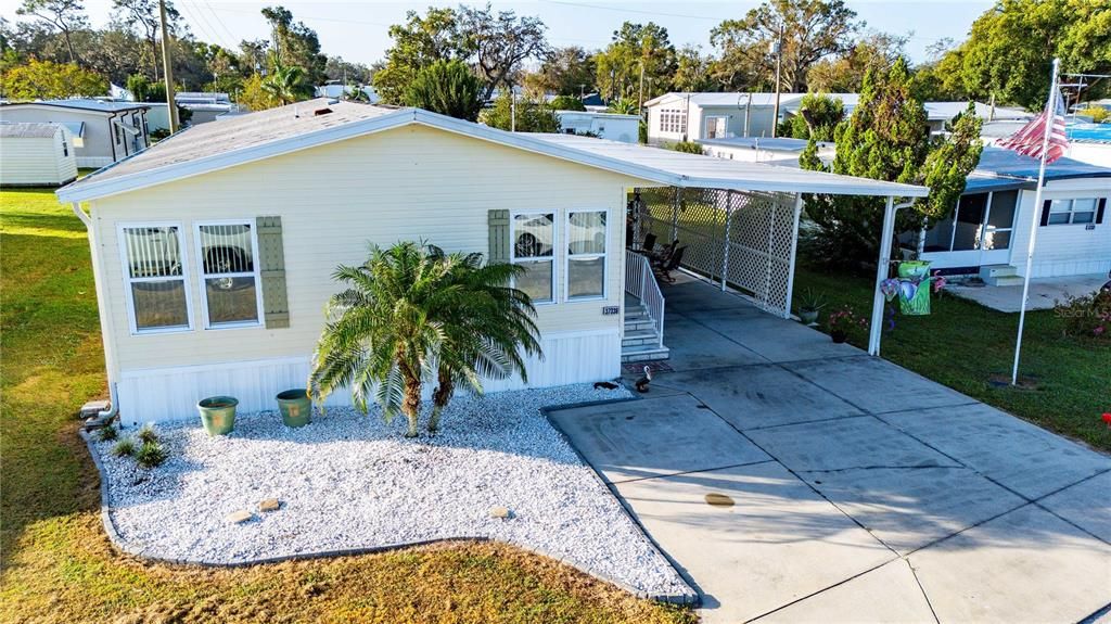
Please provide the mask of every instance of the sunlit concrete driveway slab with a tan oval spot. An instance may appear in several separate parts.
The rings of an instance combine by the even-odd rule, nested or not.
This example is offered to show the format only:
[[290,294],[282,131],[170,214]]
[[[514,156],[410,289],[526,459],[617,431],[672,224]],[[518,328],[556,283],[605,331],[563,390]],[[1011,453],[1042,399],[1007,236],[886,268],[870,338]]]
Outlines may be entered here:
[[[617,484],[703,595],[703,622],[744,622],[895,554],[775,463]],[[730,496],[711,506],[705,494]]]

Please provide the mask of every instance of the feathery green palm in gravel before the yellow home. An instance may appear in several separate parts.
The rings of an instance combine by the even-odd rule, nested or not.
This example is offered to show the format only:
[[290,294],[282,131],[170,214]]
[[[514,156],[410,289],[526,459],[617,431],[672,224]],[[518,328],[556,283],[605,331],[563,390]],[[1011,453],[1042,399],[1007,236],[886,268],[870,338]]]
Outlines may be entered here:
[[480,262],[480,254],[401,242],[372,246],[360,266],[339,266],[333,276],[348,288],[328,303],[309,378],[313,397],[349,386],[363,413],[371,399],[388,422],[403,413],[406,436],[414,437],[426,379],[440,384],[431,431],[456,385],[481,392],[483,376],[517,371],[524,379],[519,349],[540,348],[532,302],[506,285],[521,268]]

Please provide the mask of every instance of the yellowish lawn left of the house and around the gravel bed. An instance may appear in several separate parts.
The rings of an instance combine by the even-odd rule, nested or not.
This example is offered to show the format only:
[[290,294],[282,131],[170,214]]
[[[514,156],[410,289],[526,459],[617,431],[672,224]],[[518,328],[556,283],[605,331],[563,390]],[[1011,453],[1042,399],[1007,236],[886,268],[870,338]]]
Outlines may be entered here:
[[106,390],[83,225],[50,191],[0,191],[0,623],[694,621],[499,544],[237,570],[120,555],[77,436]]

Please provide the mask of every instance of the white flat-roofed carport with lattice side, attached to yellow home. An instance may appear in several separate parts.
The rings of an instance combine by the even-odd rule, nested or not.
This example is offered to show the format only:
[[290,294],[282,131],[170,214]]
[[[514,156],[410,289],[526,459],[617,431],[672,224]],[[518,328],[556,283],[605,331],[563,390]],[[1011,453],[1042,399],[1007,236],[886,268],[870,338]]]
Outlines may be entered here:
[[[895,198],[913,200],[929,194],[924,187],[838,175],[819,171],[777,167],[688,154],[673,150],[600,141],[570,134],[542,134],[543,141],[588,152],[605,161],[621,161],[627,173],[660,182],[660,187],[633,191],[632,240],[644,234],[685,245],[682,266],[700,273],[721,290],[737,288],[761,309],[783,318],[791,315],[799,221],[804,194],[868,195],[887,199],[877,288],[872,306],[869,353],[880,350],[883,296],[879,283],[888,276],[894,232]],[[627,254],[628,262],[635,262]],[[652,291],[642,271],[627,266],[629,294],[645,303],[662,330],[665,302]],[[662,334],[661,334],[662,340]]]

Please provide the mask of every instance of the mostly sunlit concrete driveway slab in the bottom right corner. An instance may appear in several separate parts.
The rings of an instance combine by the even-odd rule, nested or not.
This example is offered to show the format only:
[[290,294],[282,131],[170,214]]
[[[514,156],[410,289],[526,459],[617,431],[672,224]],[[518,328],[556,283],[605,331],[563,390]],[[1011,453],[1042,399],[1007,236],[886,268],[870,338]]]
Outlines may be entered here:
[[1077,622],[1111,602],[1111,545],[1035,505],[909,560],[941,622]]

